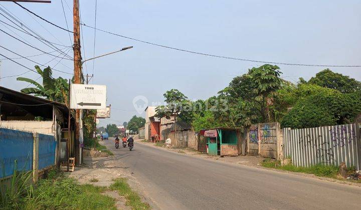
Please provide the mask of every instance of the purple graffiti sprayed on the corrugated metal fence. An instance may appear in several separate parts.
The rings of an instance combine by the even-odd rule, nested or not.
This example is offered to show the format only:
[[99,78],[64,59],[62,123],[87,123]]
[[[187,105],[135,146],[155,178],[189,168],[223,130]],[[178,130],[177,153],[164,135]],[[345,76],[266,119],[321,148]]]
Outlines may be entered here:
[[343,147],[346,143],[351,143],[352,139],[356,138],[354,130],[351,129],[351,126],[348,127],[348,125],[334,126],[329,131],[334,146]]

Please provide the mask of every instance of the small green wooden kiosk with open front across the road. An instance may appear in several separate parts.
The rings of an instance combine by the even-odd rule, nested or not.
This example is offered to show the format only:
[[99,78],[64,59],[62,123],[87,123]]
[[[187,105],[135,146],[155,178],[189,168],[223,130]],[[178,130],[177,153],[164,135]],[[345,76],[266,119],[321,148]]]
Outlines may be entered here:
[[207,153],[210,155],[238,156],[242,153],[242,129],[216,127],[205,129]]

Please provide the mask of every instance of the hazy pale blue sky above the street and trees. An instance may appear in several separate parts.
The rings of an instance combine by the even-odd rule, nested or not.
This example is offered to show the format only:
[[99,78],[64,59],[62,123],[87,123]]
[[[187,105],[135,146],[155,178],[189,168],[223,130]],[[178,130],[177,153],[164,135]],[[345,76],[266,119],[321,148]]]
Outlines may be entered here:
[[[25,7],[56,23],[73,30],[73,1],[52,0],[52,3],[21,3]],[[1,2],[45,39],[71,45],[69,33],[25,11],[13,2]],[[68,8],[68,5],[70,8]],[[359,0],[97,0],[96,27],[124,36],[193,50],[255,60],[326,65],[361,64],[361,2]],[[80,0],[81,22],[94,26],[95,0]],[[1,14],[4,14],[0,10]],[[11,23],[4,16],[0,20]],[[11,23],[12,24],[12,23]],[[9,26],[0,24],[4,31],[28,41],[44,51],[54,49],[39,40]],[[18,33],[17,36],[14,32]],[[206,99],[228,85],[236,75],[263,63],[223,59],[154,46],[112,34],[82,27],[83,59],[118,50],[131,49],[107,55],[83,66],[84,74],[94,73],[91,84],[107,85],[107,104],[111,104],[111,118],[107,123],[122,124],[138,113],[133,99],[146,98],[148,104],[164,100],[162,94],[171,88],[182,91],[191,99]],[[0,45],[23,56],[42,53],[0,31]],[[63,48],[64,46],[59,46]],[[69,55],[73,56],[71,48]],[[8,57],[19,57],[1,48]],[[52,52],[58,54],[58,52]],[[0,59],[2,59],[0,55]],[[47,63],[54,57],[29,57]],[[32,68],[36,63],[15,59]],[[54,69],[72,72],[73,61],[56,58],[48,63]],[[27,71],[11,60],[2,59],[0,77]],[[298,77],[309,79],[325,67],[279,65],[282,77],[297,82]],[[361,80],[361,67],[330,67],[331,70]],[[39,74],[22,75],[33,79]],[[72,75],[53,71],[53,76],[70,78]],[[40,80],[40,79],[39,79]],[[28,83],[15,77],[1,78],[0,85],[20,90]]]

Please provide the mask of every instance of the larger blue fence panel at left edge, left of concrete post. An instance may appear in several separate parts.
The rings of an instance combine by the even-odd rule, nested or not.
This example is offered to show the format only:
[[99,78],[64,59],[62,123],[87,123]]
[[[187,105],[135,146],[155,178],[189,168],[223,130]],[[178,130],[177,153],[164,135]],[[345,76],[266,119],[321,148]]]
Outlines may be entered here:
[[0,128],[0,177],[13,174],[15,161],[17,170],[33,169],[33,142],[31,132]]

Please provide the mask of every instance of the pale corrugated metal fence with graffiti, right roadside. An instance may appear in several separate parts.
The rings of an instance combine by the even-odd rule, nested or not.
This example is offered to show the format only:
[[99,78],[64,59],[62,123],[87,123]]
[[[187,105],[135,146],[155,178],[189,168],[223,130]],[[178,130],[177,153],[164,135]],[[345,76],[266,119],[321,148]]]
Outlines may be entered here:
[[359,170],[359,125],[342,124],[302,129],[283,128],[283,153],[296,166],[339,165],[345,162]]

